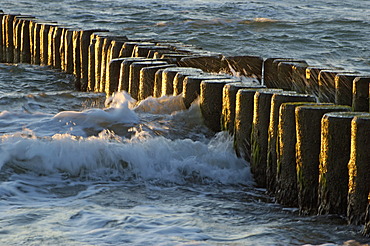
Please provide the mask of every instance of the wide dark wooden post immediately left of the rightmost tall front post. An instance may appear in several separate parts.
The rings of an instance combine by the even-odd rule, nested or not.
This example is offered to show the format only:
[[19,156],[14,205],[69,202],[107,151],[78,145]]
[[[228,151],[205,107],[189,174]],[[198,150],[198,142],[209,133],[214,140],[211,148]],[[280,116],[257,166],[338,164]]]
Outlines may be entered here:
[[351,121],[363,114],[332,112],[321,120],[319,214],[347,213]]

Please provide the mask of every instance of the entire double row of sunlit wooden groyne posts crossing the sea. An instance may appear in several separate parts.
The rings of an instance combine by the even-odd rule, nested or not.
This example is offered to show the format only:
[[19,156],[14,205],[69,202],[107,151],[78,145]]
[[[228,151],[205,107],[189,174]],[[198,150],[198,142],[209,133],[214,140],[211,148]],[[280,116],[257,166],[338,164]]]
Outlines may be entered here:
[[73,74],[81,91],[125,90],[137,100],[181,94],[186,107],[200,96],[205,125],[234,136],[258,186],[302,214],[367,224],[369,234],[369,76],[297,59],[225,57],[174,41],[129,40],[33,16],[0,13],[0,20],[1,62]]

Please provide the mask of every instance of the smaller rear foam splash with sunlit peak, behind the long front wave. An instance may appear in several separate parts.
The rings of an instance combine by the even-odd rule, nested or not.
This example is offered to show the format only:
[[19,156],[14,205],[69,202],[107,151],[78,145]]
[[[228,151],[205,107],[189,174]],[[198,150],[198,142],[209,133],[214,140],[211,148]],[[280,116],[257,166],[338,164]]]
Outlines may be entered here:
[[141,121],[138,115],[140,113],[170,115],[185,109],[181,96],[149,97],[136,102],[125,91],[117,92],[107,98],[105,105],[105,109],[91,108],[80,112],[62,111],[52,118],[49,127],[63,127],[67,129],[64,133],[87,137],[89,134],[86,134],[86,129],[97,133],[108,128],[115,130],[122,125],[131,127],[138,124]]

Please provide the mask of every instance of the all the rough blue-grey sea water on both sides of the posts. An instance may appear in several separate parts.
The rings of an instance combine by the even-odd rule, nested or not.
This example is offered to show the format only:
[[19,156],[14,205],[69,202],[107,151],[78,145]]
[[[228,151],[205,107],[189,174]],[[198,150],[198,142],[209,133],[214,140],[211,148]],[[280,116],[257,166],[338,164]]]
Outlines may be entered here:
[[[370,73],[369,1],[0,0],[5,13],[224,55]],[[230,136],[179,97],[74,90],[0,64],[0,245],[350,245],[338,216],[299,216],[254,187]]]

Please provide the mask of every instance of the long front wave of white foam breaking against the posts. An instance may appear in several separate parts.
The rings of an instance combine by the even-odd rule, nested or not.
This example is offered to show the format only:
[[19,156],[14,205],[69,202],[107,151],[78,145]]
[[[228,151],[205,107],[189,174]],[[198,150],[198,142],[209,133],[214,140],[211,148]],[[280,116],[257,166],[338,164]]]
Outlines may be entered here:
[[[31,131],[1,138],[0,167],[42,175],[66,173],[88,178],[157,180],[183,183],[251,182],[249,168],[232,150],[225,134],[208,144],[164,137],[121,139],[104,131],[97,137],[56,134],[36,137]],[[107,176],[108,175],[108,176]]]

